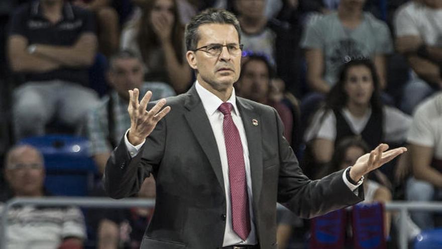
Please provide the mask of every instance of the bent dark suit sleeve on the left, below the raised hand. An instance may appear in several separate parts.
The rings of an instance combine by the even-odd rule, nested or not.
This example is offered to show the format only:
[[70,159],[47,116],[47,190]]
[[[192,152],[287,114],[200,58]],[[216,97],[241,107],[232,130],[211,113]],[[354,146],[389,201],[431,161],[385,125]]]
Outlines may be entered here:
[[108,196],[121,199],[138,193],[146,177],[161,163],[166,137],[165,118],[146,138],[139,153],[131,158],[124,137],[111,153],[104,170],[103,183]]

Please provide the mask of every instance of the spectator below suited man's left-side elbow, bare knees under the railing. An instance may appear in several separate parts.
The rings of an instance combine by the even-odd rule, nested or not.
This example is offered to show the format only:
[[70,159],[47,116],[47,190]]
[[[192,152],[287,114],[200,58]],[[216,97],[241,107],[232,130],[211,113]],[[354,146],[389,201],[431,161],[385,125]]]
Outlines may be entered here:
[[[153,176],[144,180],[137,198],[155,198]],[[97,249],[138,249],[154,209],[136,207],[131,209],[95,210],[88,218],[97,232]]]

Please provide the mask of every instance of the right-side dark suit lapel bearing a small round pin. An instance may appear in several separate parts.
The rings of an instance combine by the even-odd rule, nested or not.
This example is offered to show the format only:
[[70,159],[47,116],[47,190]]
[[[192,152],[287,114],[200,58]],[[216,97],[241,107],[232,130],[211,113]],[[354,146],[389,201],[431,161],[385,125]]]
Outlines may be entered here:
[[243,120],[246,131],[247,144],[249,147],[250,174],[252,178],[253,207],[258,207],[261,196],[263,165],[262,165],[262,137],[261,137],[261,117],[254,110],[253,106],[243,99],[237,98],[238,109]]

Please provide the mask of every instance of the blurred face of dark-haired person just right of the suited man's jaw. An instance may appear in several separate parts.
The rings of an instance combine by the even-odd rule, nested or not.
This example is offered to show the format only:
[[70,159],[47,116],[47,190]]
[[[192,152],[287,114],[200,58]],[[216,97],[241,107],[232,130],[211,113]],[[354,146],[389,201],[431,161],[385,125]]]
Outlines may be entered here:
[[249,100],[266,104],[269,94],[269,70],[260,60],[248,61],[238,82],[238,95]]

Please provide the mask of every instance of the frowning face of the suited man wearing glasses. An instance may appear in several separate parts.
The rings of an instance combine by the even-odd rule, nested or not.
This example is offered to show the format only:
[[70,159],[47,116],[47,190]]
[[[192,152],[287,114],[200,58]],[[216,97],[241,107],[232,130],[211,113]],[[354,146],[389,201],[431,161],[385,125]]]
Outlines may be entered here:
[[[199,41],[196,48],[207,45],[238,45],[238,32],[230,24],[203,24],[198,27]],[[196,78],[200,84],[215,91],[231,88],[238,80],[241,72],[241,51],[231,54],[223,47],[218,55],[213,55],[205,49],[187,51],[187,61],[197,70]]]

